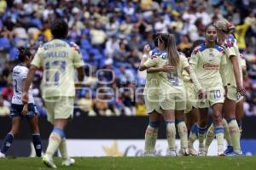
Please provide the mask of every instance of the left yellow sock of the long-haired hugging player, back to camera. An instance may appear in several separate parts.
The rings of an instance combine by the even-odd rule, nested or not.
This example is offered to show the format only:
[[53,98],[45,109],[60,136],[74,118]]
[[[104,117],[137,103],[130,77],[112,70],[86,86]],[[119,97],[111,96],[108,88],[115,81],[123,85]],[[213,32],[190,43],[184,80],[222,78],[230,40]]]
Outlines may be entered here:
[[174,121],[166,122],[166,137],[169,145],[169,150],[175,150],[176,128]]

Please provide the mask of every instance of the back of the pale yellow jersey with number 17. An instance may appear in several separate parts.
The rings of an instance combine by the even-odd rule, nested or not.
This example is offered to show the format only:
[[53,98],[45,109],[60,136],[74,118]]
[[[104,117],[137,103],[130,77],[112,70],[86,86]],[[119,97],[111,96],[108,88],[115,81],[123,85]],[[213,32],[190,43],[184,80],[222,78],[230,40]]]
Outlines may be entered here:
[[62,39],[54,39],[38,49],[32,65],[43,66],[41,82],[43,98],[70,96],[75,94],[75,67],[81,61],[79,47]]

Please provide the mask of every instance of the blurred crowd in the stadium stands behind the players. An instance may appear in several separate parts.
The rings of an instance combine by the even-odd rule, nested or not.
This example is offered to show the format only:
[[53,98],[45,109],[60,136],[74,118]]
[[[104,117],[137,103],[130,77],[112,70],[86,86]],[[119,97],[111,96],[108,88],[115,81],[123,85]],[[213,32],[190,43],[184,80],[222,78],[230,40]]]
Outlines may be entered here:
[[[247,60],[245,113],[256,116],[256,2],[253,0],[0,0],[0,115],[9,114],[11,71],[17,48],[35,53],[52,39],[50,23],[65,18],[67,39],[80,47],[86,66],[84,88],[77,89],[75,116],[144,116],[146,72],[138,71],[143,46],[154,48],[152,35],[175,35],[183,51],[204,39],[204,28],[224,17],[236,26],[236,39]],[[33,94],[38,112],[42,71]]]

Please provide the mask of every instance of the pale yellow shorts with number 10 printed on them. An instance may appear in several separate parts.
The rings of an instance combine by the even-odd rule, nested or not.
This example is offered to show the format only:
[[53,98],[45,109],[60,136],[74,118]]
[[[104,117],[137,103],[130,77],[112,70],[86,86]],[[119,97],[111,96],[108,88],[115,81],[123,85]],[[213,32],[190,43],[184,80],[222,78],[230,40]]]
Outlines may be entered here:
[[207,99],[198,99],[198,108],[209,108],[214,104],[224,103],[224,88],[207,91]]

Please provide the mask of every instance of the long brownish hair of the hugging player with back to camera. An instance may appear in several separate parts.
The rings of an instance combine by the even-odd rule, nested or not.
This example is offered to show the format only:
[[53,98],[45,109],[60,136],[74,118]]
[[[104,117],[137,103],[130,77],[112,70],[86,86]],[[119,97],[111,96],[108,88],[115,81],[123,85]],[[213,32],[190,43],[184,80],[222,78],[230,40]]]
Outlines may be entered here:
[[167,49],[168,63],[172,66],[177,66],[179,62],[179,54],[177,52],[176,40],[172,34],[160,34],[160,42],[164,42]]

